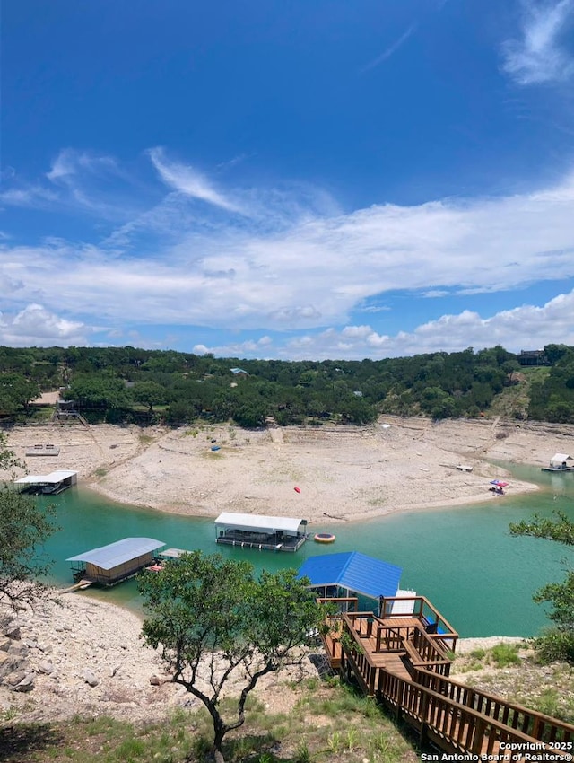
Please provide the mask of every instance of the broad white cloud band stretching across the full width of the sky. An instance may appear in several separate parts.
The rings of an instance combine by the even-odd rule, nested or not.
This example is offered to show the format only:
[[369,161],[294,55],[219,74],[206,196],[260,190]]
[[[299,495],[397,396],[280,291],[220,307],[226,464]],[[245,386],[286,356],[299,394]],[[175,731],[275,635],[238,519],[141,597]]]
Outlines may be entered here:
[[567,180],[523,196],[372,206],[274,234],[225,226],[182,232],[137,258],[65,241],[4,242],[0,273],[21,285],[14,299],[56,310],[309,329],[344,323],[355,306],[389,291],[477,293],[574,276],[573,203]]

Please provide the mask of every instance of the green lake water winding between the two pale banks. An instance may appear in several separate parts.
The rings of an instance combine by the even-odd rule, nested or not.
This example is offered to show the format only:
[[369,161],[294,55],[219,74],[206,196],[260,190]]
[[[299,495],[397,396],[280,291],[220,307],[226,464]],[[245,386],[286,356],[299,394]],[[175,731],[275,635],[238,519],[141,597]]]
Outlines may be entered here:
[[[51,499],[61,527],[46,546],[56,560],[51,582],[71,583],[66,557],[130,536],[159,539],[176,548],[217,550],[248,559],[257,570],[300,566],[309,556],[356,550],[401,566],[401,586],[427,596],[462,636],[533,636],[547,620],[532,593],[561,580],[565,560],[572,565],[574,553],[550,541],[511,538],[509,522],[535,512],[549,515],[557,508],[574,519],[574,473],[505,466],[515,478],[541,489],[517,497],[510,489],[510,495],[485,504],[396,513],[372,522],[313,524],[313,532],[335,532],[335,544],[308,542],[294,555],[216,546],[212,519],[135,509],[73,488]],[[81,595],[139,608],[134,581]]]

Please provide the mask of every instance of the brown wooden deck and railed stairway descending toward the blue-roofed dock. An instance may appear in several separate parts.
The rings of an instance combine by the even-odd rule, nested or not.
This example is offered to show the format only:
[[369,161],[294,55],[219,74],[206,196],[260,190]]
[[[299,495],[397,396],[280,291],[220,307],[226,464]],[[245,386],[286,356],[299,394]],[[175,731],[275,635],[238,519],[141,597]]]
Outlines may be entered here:
[[414,598],[410,616],[392,615],[389,600],[381,617],[330,617],[331,666],[413,726],[422,745],[500,763],[571,760],[573,725],[448,678],[458,634],[429,601]]

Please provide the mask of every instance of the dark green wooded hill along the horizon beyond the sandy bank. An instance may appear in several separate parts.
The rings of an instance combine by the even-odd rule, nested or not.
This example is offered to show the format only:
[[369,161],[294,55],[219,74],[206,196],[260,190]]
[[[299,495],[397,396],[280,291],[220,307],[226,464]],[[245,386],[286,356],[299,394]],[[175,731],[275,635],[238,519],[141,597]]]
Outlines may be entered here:
[[502,346],[384,360],[216,358],[135,347],[0,347],[0,414],[39,417],[41,392],[90,422],[239,426],[325,421],[368,424],[380,414],[574,423],[574,347],[535,353]]

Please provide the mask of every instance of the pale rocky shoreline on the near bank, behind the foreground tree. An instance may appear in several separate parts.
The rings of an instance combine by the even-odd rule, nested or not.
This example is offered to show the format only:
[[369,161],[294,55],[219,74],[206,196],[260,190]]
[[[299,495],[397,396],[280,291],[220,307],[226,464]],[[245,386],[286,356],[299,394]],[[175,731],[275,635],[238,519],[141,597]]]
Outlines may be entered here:
[[[6,613],[0,610],[1,616]],[[5,681],[0,680],[0,713],[13,715],[18,723],[61,722],[76,715],[112,715],[150,723],[161,721],[177,707],[200,706],[170,681],[160,654],[143,645],[141,617],[108,601],[60,595],[59,604],[48,599],[39,601],[34,610],[22,610],[10,627],[12,633],[18,628],[18,636],[2,652],[5,662],[0,662],[0,678]],[[457,653],[523,641],[508,636],[461,639]],[[13,673],[7,670],[10,660]],[[304,665],[307,677],[317,675],[312,662]],[[271,673],[257,684],[256,694],[271,712],[288,713],[298,695],[284,687],[297,676],[292,670]],[[12,680],[26,677],[32,688],[14,690]],[[239,683],[231,681],[228,691],[238,693]]]

